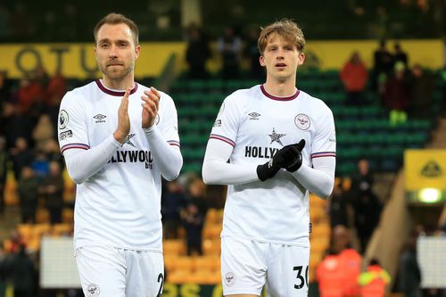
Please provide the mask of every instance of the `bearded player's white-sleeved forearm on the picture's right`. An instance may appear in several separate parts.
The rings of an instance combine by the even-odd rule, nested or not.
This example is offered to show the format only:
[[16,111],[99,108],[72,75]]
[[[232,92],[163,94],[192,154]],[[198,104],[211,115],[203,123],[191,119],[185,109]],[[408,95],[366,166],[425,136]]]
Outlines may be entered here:
[[150,145],[150,152],[160,169],[161,176],[167,180],[178,177],[183,166],[183,157],[175,145],[170,145],[162,136],[158,128],[145,128],[145,137]]

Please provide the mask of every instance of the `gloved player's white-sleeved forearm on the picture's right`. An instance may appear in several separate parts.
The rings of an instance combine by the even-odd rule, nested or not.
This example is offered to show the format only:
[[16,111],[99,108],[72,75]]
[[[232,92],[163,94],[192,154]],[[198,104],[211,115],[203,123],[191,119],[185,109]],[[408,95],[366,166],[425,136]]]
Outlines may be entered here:
[[[322,158],[321,158],[322,159]],[[327,157],[324,161],[318,161],[315,168],[302,165],[293,172],[293,177],[311,193],[322,199],[327,199],[332,194],[335,186],[335,158]]]

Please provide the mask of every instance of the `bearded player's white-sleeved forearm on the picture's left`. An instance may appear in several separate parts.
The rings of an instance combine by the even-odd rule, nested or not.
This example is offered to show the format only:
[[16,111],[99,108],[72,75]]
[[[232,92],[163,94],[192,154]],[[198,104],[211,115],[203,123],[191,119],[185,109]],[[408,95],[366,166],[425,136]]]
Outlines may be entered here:
[[119,148],[120,143],[113,136],[108,136],[101,144],[89,150],[66,150],[63,156],[71,179],[76,184],[82,184],[102,169]]

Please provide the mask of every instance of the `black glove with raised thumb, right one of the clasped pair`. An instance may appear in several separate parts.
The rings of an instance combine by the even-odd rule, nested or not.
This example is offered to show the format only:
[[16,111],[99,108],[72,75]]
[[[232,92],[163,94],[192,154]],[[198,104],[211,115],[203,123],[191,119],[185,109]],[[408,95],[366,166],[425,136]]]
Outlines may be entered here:
[[305,140],[302,139],[299,144],[288,144],[278,150],[273,156],[273,164],[284,168],[290,172],[294,172],[301,168],[302,165],[302,149],[305,146]]

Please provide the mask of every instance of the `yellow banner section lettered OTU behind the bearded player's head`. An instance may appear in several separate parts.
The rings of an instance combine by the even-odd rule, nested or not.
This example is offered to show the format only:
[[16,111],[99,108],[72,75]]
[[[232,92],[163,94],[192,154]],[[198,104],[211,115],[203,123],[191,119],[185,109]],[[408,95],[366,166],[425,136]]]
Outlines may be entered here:
[[[156,77],[171,54],[183,56],[185,44],[143,43],[136,62],[136,78]],[[67,78],[99,78],[94,44],[16,44],[0,45],[0,70],[9,78],[22,78],[42,64],[53,74],[62,71]],[[181,58],[180,58],[181,59]]]

